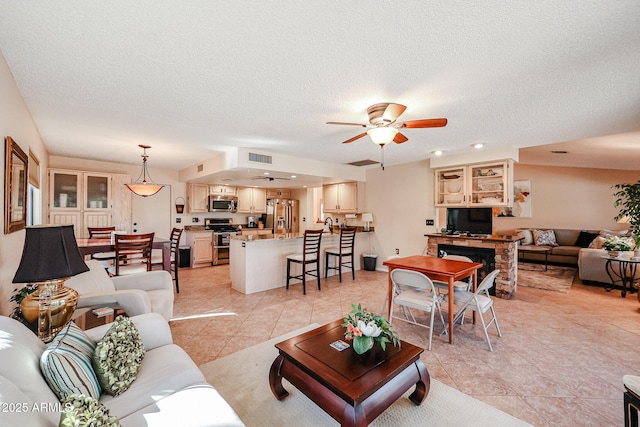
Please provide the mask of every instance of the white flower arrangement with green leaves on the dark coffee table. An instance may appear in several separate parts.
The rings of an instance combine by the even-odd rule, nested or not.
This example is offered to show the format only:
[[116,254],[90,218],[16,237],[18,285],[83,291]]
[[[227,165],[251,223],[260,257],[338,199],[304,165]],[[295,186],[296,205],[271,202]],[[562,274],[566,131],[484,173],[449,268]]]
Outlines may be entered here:
[[391,324],[384,317],[363,309],[360,304],[351,304],[351,313],[343,320],[342,326],[347,328],[344,338],[353,341],[353,350],[358,354],[373,348],[375,341],[380,343],[382,350],[386,349],[388,342],[400,347],[400,338],[391,329]]

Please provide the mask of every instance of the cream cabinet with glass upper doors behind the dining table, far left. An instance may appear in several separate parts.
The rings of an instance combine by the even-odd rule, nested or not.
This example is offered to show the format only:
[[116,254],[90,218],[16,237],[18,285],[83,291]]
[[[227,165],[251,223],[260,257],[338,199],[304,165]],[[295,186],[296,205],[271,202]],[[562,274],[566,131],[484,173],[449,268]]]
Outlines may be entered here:
[[[128,175],[49,169],[49,223],[73,225],[77,237],[88,237],[87,227],[129,230],[131,193],[122,188],[114,203],[112,184],[130,182]],[[122,204],[126,213],[123,214]],[[118,213],[114,222],[114,211]]]

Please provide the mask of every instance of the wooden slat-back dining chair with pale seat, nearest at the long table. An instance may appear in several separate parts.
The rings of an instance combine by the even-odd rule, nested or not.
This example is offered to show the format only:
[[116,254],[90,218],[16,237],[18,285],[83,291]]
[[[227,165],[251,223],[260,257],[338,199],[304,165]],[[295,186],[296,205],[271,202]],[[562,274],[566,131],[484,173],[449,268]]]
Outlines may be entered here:
[[151,247],[155,233],[116,234],[116,259],[109,274],[127,274],[151,271]]

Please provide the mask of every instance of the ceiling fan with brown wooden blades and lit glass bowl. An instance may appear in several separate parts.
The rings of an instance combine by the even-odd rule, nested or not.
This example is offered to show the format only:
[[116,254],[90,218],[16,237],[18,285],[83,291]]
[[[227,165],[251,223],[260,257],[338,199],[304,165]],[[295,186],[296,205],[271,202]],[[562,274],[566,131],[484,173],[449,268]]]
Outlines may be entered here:
[[[396,120],[398,120],[398,117],[400,117],[400,115],[404,113],[404,110],[406,109],[407,107],[402,104],[394,104],[391,102],[374,104],[371,107],[367,108],[367,114],[369,115],[370,123],[368,125],[362,123],[345,122],[327,122],[327,124],[370,128],[368,131],[356,135],[353,138],[349,138],[342,143],[349,144],[364,137],[365,135],[369,135],[371,140],[375,144],[378,144],[381,149],[392,141],[396,144],[402,144],[403,142],[407,142],[409,140],[409,138],[400,133],[400,129],[439,128],[447,125],[447,119],[445,118],[397,122]],[[382,161],[380,162],[380,165],[382,166],[382,170],[384,170],[384,151],[381,151],[381,155]]]

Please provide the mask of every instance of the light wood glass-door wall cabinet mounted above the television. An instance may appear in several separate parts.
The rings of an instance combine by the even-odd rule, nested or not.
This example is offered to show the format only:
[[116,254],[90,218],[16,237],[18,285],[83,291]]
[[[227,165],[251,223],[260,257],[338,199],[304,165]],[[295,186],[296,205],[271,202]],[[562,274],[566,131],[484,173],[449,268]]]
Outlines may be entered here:
[[511,206],[511,160],[435,170],[436,206]]

